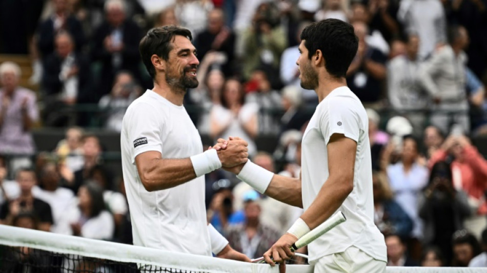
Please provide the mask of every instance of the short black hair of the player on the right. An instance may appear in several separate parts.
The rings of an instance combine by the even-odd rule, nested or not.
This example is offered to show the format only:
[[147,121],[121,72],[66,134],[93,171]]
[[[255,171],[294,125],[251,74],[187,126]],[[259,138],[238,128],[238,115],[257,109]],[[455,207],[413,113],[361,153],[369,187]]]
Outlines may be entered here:
[[321,50],[328,73],[337,78],[346,76],[358,49],[352,25],[338,19],[325,19],[303,29],[300,38],[305,40],[308,58]]

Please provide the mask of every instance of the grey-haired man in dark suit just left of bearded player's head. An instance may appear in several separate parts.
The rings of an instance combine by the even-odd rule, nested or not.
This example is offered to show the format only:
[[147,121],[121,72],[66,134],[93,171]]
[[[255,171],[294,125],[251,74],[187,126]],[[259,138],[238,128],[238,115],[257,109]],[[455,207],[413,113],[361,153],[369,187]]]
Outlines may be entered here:
[[95,101],[110,92],[114,77],[120,70],[130,71],[139,82],[144,82],[139,69],[140,28],[126,17],[126,5],[121,0],[105,2],[105,12],[105,21],[94,32],[91,52],[93,60],[102,64]]

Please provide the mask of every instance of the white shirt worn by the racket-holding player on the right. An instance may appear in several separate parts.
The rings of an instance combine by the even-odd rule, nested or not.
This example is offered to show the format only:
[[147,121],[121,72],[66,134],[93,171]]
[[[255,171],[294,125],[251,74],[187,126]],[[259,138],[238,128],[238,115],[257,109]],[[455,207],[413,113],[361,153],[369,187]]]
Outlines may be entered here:
[[348,87],[333,90],[316,107],[302,139],[302,201],[308,209],[327,181],[327,144],[333,134],[357,142],[353,191],[338,208],[347,221],[309,244],[310,263],[355,246],[374,259],[387,262],[384,237],[374,224],[369,121],[360,100]]

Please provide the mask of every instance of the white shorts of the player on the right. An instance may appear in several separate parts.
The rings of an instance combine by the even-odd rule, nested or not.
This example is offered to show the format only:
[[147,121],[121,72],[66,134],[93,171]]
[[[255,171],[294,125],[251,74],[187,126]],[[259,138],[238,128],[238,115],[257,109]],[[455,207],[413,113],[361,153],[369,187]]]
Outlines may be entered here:
[[376,260],[355,246],[324,256],[315,264],[314,273],[383,273],[385,262]]

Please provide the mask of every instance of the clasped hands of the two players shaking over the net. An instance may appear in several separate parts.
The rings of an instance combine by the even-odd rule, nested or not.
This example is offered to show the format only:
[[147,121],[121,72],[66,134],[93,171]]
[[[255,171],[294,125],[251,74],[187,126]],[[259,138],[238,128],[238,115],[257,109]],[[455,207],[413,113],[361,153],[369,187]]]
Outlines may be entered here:
[[247,141],[239,137],[229,137],[228,140],[219,138],[209,150],[216,150],[222,169],[238,174],[249,160],[248,145]]

